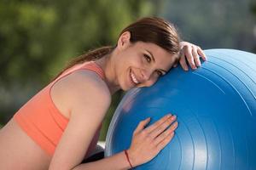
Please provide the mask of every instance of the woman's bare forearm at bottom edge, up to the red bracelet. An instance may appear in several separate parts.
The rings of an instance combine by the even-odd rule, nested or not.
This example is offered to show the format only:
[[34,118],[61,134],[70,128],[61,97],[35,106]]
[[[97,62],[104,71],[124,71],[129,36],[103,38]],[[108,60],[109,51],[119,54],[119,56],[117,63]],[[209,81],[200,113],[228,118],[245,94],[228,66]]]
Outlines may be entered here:
[[123,170],[131,168],[126,159],[125,152],[119,152],[113,156],[106,157],[99,161],[92,161],[90,163],[80,164],[74,167],[73,170],[86,170],[86,169],[104,169],[104,170]]

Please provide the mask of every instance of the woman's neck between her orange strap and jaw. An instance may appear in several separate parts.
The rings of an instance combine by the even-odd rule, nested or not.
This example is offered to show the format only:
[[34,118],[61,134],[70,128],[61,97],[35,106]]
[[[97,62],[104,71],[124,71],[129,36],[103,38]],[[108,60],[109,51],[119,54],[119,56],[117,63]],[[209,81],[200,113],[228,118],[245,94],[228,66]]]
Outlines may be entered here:
[[[114,53],[114,50],[113,50],[113,53]],[[96,64],[102,67],[102,70],[105,74],[106,83],[108,85],[108,88],[111,94],[114,94],[120,89],[119,84],[115,78],[116,76],[115,76],[114,65],[112,61],[113,53],[106,54],[101,59],[96,60]]]

